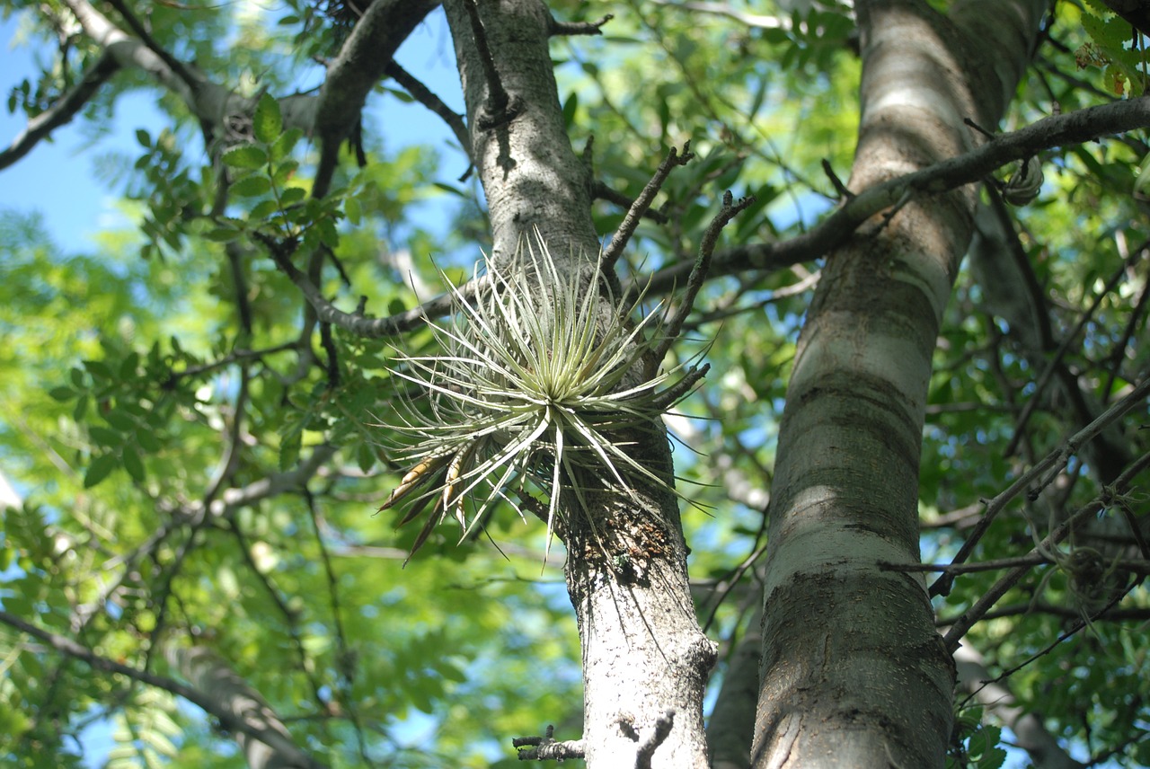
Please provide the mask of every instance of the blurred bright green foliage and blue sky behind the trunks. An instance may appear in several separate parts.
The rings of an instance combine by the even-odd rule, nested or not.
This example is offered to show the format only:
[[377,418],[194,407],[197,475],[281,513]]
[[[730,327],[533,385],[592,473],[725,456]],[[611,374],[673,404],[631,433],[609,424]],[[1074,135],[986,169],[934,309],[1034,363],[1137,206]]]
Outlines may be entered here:
[[[100,48],[75,33],[56,0],[21,6],[0,7],[18,20],[21,44],[36,51],[43,72],[3,87],[9,109],[31,116]],[[129,7],[175,57],[250,95],[317,87],[319,60],[336,55],[355,17],[352,3],[337,0]],[[836,205],[823,163],[849,177],[858,124],[848,3],[551,7],[570,21],[613,15],[601,37],[552,43],[572,143],[585,148],[600,183],[599,231],[619,224],[619,201],[638,194],[668,147],[690,141],[697,154],[657,200],[660,221],[639,228],[624,278],[693,260],[727,189],[758,203],[726,230],[720,249],[785,239]],[[425,24],[422,48],[399,56],[417,76],[430,60],[452,59],[442,16]],[[1141,94],[1141,48],[1124,45],[1133,36],[1122,24],[1098,3],[1058,2],[1010,116],[983,128],[1010,130]],[[140,129],[135,154],[105,151],[117,103],[137,91],[155,98],[166,128]],[[461,105],[458,83],[439,95]],[[209,645],[298,744],[334,767],[511,766],[511,737],[546,723],[575,737],[581,724],[561,553],[544,564],[543,525],[497,510],[484,533],[463,543],[442,526],[404,569],[415,530],[374,514],[404,468],[389,462],[391,437],[373,415],[402,386],[386,369],[392,345],[419,349],[430,336],[336,331],[332,364],[299,292],[241,237],[273,222],[316,228],[342,266],[324,272],[324,294],[348,310],[363,297],[376,316],[439,292],[437,268],[466,278],[489,245],[484,201],[452,140],[390,138],[390,110],[402,101],[411,99],[392,82],[376,89],[363,118],[367,164],[356,168],[348,153],[336,190],[296,222],[276,220],[286,212],[275,195],[310,189],[316,151],[306,138],[281,157],[290,161],[282,178],[271,172],[255,194],[232,199],[221,231],[221,218],[209,216],[220,168],[200,128],[176,97],[130,71],[100,89],[77,126],[90,149],[75,174],[120,197],[118,225],[66,251],[18,192],[5,193],[0,469],[23,503],[3,513],[0,603],[101,656],[163,675],[178,676],[164,645]],[[980,500],[1145,377],[1148,157],[1143,133],[1043,156],[1038,200],[1006,214],[1004,243],[1022,260],[996,255],[1033,271],[1037,291],[1022,309],[1003,303],[999,278],[980,272],[976,260],[964,267],[925,431],[926,561],[952,555]],[[22,162],[36,163],[34,151]],[[996,195],[983,195],[988,212],[1004,212]],[[698,503],[684,524],[700,614],[723,655],[758,622],[754,567],[767,545],[776,420],[819,267],[812,257],[715,275],[691,318],[697,341],[678,351],[710,345],[705,386],[668,424],[681,441],[681,486]],[[1061,384],[1040,390],[1048,368]],[[1112,453],[1072,462],[1058,498],[1046,500],[1053,513],[1029,512],[1040,537],[1049,516],[1065,517],[1145,452],[1145,422],[1135,409]],[[263,493],[268,483],[279,493]],[[232,502],[232,492],[247,497]],[[1144,521],[1141,492],[1132,505]],[[1101,518],[1118,520],[1113,509]],[[1097,536],[1117,537],[1114,525]],[[1027,510],[1015,505],[977,557],[1018,556],[1032,545]],[[1035,568],[1000,601],[1014,610],[976,625],[969,644],[995,675],[1042,653],[1006,684],[1076,758],[1150,763],[1145,590],[1119,605],[1122,621],[1096,621],[1092,632],[1044,651],[1081,608],[1066,576],[1046,579],[1050,571]],[[936,599],[940,621],[971,606],[996,576],[960,577]],[[197,708],[122,676],[93,675],[2,625],[0,671],[6,766],[243,766],[229,736]],[[723,671],[721,662],[716,676]],[[102,753],[101,735],[112,743]]]

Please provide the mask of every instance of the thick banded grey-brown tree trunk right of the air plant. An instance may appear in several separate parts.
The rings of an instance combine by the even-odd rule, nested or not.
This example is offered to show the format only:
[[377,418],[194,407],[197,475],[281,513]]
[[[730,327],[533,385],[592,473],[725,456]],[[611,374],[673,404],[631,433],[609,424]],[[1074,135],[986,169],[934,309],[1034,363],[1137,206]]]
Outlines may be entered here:
[[[858,2],[859,192],[992,128],[1044,2]],[[997,43],[998,45],[995,45]],[[997,59],[976,69],[988,46]],[[911,200],[828,256],[779,438],[756,767],[941,767],[953,662],[920,578],[918,472],[930,359],[976,190]],[[892,214],[892,216],[891,216]],[[889,220],[889,221],[888,221]]]

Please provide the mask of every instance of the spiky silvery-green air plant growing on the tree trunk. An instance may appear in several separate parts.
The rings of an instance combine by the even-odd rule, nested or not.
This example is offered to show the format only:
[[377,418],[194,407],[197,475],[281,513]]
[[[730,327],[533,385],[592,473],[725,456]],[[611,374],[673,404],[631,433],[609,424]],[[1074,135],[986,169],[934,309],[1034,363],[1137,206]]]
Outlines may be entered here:
[[569,263],[559,269],[537,234],[506,262],[488,261],[471,297],[440,272],[453,306],[448,321],[430,324],[442,352],[397,354],[392,374],[420,395],[401,397],[399,421],[381,425],[411,438],[397,459],[413,468],[379,509],[412,498],[406,523],[432,505],[413,554],[448,512],[466,537],[507,500],[520,516],[528,508],[546,521],[550,548],[562,492],[586,510],[581,478],[614,482],[632,497],[637,482],[672,487],[634,459],[634,436],[705,368],[683,363],[643,378],[661,341],[659,307],[631,323],[642,295],[620,308],[597,278],[577,274],[581,260]]

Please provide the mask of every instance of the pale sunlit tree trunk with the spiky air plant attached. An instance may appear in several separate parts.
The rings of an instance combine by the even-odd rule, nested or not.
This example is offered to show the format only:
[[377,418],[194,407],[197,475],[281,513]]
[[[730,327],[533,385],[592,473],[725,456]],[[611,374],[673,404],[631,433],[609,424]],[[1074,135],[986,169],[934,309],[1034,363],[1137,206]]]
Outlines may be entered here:
[[[466,2],[448,0],[444,8],[491,216],[493,259],[506,257],[537,228],[559,269],[586,274],[599,251],[591,179],[564,128],[547,45],[551,17],[538,0],[477,3],[478,37],[491,55],[485,61]],[[588,280],[588,290],[595,285]],[[669,479],[664,425],[651,425],[642,439],[641,461]],[[567,528],[560,530],[583,645],[588,766],[704,767],[703,689],[714,647],[688,591],[677,501],[657,485],[639,489],[639,501],[610,478],[599,482],[601,489],[588,492],[586,513],[567,506]]]

